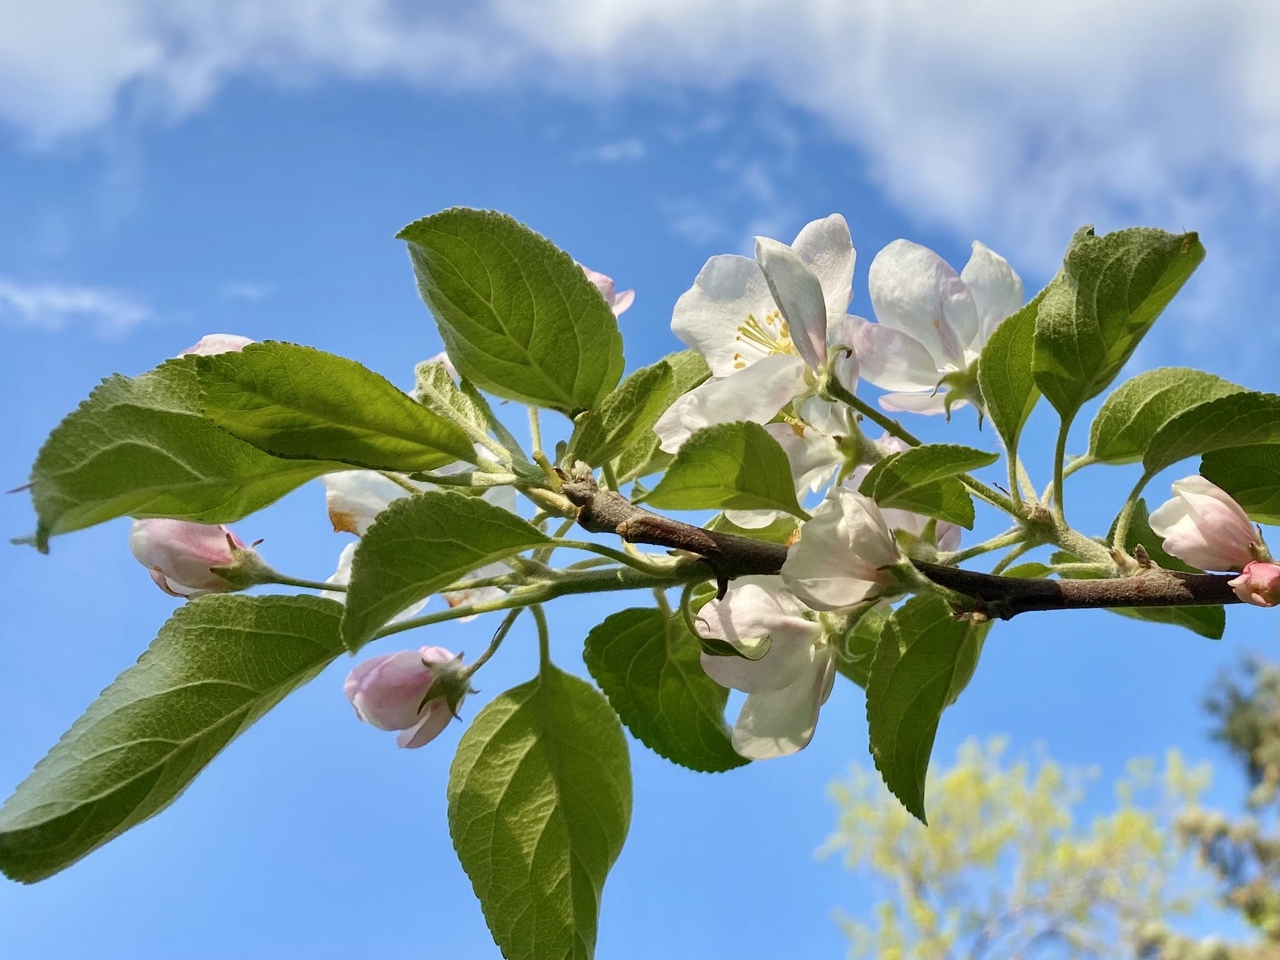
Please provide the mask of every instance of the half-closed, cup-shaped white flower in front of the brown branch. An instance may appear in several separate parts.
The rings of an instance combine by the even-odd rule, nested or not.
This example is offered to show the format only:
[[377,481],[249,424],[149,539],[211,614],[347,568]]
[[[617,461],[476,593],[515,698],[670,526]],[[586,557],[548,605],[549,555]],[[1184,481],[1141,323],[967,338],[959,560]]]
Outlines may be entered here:
[[837,486],[800,527],[800,540],[782,564],[782,582],[808,607],[835,611],[900,593],[891,570],[900,562],[876,502]]

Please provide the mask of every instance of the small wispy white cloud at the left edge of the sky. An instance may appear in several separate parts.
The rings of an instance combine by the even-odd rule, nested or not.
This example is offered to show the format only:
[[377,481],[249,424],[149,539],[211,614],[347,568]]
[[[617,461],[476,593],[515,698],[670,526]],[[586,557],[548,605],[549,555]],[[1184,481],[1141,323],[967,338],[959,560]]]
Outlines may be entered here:
[[120,291],[0,279],[0,323],[6,326],[58,333],[86,323],[99,337],[114,338],[151,319],[150,308]]

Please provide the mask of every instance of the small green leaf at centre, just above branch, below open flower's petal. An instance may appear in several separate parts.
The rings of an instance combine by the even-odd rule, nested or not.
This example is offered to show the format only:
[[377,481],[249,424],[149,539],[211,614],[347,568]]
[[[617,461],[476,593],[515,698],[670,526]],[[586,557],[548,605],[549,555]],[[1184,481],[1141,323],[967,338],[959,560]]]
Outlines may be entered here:
[[707,426],[690,436],[646,497],[668,509],[776,509],[803,516],[791,465],[759,424]]

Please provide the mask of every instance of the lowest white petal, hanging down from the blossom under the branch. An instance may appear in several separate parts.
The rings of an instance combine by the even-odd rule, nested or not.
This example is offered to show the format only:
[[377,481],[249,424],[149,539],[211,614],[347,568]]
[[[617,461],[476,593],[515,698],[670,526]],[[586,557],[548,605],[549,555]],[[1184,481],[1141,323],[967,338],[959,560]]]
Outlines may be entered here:
[[818,712],[831,692],[835,662],[829,646],[810,648],[808,669],[781,690],[749,694],[733,724],[733,749],[753,760],[797,753],[813,740]]

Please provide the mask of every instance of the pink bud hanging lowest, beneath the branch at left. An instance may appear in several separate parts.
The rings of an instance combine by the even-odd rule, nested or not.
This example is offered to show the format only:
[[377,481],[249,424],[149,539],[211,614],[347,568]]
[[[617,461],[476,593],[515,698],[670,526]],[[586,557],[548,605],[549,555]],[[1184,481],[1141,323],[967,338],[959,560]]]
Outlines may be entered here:
[[443,646],[384,653],[351,671],[342,691],[365,723],[401,731],[396,737],[401,746],[424,746],[440,735],[453,716],[443,696],[422,704],[435,680],[431,664],[454,659]]

